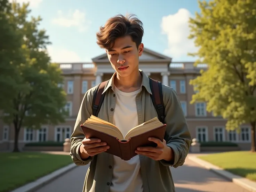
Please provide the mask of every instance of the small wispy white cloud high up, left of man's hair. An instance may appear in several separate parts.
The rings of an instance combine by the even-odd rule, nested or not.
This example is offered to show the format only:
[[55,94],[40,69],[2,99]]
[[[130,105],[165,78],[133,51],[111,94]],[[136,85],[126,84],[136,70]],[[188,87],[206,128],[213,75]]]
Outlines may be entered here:
[[69,10],[68,14],[63,14],[61,10],[58,10],[58,16],[52,22],[63,27],[77,27],[79,32],[85,31],[88,25],[91,24],[91,21],[86,19],[85,13],[78,9],[74,12]]

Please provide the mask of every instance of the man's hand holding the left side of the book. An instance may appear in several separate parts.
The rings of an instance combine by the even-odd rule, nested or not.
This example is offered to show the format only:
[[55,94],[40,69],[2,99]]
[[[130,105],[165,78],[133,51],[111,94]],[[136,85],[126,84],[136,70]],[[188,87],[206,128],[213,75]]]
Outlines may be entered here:
[[79,152],[82,159],[87,159],[89,156],[92,157],[99,153],[105,152],[107,149],[109,149],[109,146],[106,144],[106,142],[101,142],[101,139],[84,138]]

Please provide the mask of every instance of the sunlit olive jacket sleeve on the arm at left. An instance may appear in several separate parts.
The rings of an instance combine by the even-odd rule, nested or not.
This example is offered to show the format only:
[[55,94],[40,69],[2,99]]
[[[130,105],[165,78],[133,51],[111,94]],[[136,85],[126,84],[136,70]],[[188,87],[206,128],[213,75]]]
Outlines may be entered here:
[[79,155],[79,147],[82,145],[82,140],[85,138],[85,134],[83,133],[82,128],[80,127],[90,116],[93,114],[92,110],[92,100],[93,100],[93,88],[89,89],[85,96],[83,97],[78,115],[77,120],[75,122],[74,131],[71,135],[71,150],[70,156],[73,162],[76,165],[87,165],[90,161],[93,160],[93,157],[89,157],[86,160],[82,160]]

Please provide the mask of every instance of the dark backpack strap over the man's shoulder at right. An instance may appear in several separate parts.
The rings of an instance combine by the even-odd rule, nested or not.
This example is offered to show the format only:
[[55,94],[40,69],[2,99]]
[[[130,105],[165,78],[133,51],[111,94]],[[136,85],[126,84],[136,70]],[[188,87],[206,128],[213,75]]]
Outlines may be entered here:
[[149,77],[149,85],[152,92],[151,99],[157,111],[158,119],[164,123],[165,105],[163,104],[162,83]]

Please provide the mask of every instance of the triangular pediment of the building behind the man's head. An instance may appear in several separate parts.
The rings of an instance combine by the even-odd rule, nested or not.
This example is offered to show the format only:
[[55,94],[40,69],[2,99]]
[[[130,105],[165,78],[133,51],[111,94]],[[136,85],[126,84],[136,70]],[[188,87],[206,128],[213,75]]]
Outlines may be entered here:
[[[104,53],[102,55],[99,55],[97,57],[94,57],[92,59],[94,63],[103,63],[103,62],[109,62],[107,58],[107,54]],[[159,54],[155,51],[152,51],[150,49],[144,48],[143,54],[141,57],[139,57],[140,62],[171,62],[171,58],[167,57],[165,55]]]

